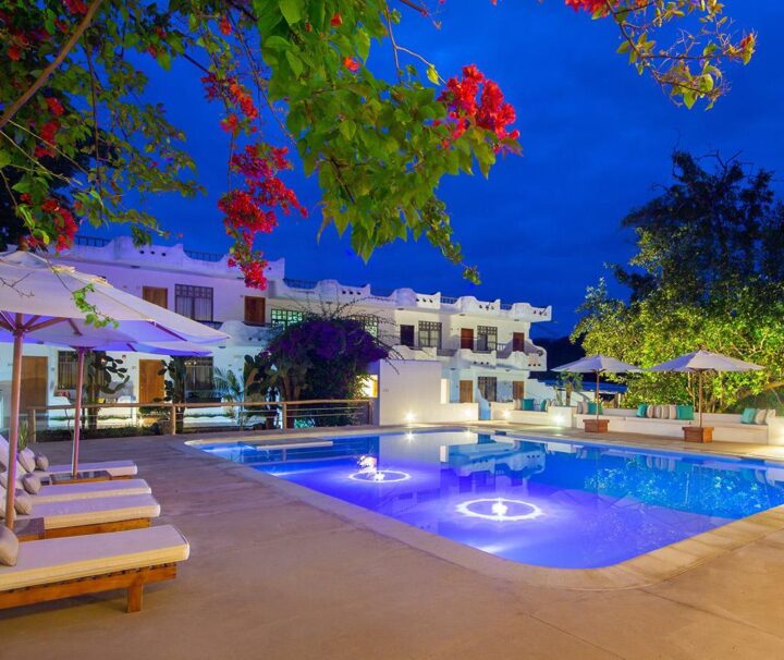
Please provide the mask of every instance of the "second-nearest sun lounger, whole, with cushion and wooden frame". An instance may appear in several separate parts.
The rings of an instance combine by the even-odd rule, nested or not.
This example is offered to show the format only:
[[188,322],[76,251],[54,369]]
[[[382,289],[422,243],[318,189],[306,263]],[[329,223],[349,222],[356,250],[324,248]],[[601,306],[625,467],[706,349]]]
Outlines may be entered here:
[[[56,486],[54,488],[63,488]],[[149,494],[89,498],[64,502],[37,503],[33,497],[29,514],[17,515],[27,518],[44,518],[46,538],[102,534],[122,529],[149,527],[150,520],[160,515],[160,504]]]

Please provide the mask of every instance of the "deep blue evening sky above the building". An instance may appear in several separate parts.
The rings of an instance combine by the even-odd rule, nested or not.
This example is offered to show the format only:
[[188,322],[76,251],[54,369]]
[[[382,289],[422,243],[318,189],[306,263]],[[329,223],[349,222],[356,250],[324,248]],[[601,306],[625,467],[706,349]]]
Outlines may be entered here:
[[[501,85],[517,109],[523,157],[506,157],[491,172],[444,180],[441,195],[462,241],[466,260],[478,264],[482,284],[465,282],[458,268],[426,242],[381,248],[365,265],[347,237],[328,230],[317,243],[320,218],[284,219],[265,237],[269,258],[285,257],[289,277],[334,278],[348,284],[412,286],[422,292],[552,305],[548,335],[567,333],[585,288],[603,264],[632,254],[621,218],[666,183],[675,147],[696,154],[740,152],[744,160],[784,175],[784,2],[727,0],[736,27],[759,32],[751,64],[730,70],[732,90],[711,111],[672,105],[623,56],[608,21],[590,21],[562,0],[450,0],[441,30],[411,14],[397,38],[427,53],[443,76],[476,63]],[[404,10],[405,11],[405,10]],[[387,59],[373,46],[371,64]],[[199,180],[208,195],[150,204],[166,229],[182,232],[193,249],[225,249],[216,200],[225,190],[225,136],[217,127],[220,108],[203,102],[198,74],[182,63],[166,74],[150,69],[151,96],[188,134]],[[289,178],[311,209],[313,181]],[[781,184],[776,184],[781,191]]]

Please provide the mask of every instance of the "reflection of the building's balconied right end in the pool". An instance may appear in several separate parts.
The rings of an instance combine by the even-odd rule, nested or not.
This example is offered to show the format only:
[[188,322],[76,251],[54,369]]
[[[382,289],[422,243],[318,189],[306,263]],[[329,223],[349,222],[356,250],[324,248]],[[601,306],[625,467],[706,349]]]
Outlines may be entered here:
[[544,469],[544,450],[534,442],[443,445],[441,464],[457,477],[503,474],[523,479]]

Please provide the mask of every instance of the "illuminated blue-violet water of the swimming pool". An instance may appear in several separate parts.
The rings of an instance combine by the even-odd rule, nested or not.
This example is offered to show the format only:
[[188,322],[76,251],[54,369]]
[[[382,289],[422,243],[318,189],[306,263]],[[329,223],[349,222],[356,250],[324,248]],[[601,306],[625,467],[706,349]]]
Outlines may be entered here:
[[462,430],[319,444],[201,449],[540,566],[615,564],[784,503],[784,465],[756,460]]

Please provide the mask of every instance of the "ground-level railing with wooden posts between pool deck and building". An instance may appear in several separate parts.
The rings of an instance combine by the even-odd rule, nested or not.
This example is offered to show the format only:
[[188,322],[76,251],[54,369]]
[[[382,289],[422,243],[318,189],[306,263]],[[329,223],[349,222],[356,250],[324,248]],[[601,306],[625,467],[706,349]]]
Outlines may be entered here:
[[[91,403],[83,408],[90,437],[177,435],[216,430],[292,429],[373,424],[373,399],[310,401],[218,401],[194,403]],[[68,439],[74,406],[26,410],[27,440]],[[112,429],[111,432],[109,429]],[[118,429],[128,431],[118,433]],[[39,438],[39,436],[41,436]],[[60,436],[64,436],[60,438]],[[106,437],[106,436],[103,436]]]

